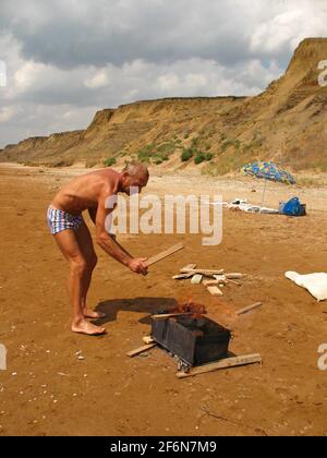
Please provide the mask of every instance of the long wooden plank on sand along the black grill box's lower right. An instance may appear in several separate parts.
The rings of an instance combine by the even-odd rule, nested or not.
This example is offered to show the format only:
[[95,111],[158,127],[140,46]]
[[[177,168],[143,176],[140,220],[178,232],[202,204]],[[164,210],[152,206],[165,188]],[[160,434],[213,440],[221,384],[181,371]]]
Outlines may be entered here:
[[262,364],[263,359],[261,354],[247,354],[244,357],[227,358],[225,360],[217,361],[215,363],[193,367],[190,372],[178,372],[179,378],[194,377],[195,375],[207,374],[208,372],[215,372],[223,369],[238,367],[241,365],[249,364]]

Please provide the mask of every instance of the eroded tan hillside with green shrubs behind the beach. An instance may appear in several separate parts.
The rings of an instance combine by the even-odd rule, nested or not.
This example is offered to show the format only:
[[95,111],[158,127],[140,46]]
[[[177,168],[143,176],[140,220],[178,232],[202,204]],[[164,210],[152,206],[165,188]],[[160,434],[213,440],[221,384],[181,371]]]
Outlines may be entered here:
[[[87,167],[140,158],[211,174],[274,159],[294,170],[327,171],[327,86],[318,63],[327,38],[302,41],[284,75],[255,97],[170,98],[98,111],[85,131],[33,137],[0,150],[1,161]],[[181,160],[183,154],[184,161]],[[111,164],[110,161],[107,164]]]

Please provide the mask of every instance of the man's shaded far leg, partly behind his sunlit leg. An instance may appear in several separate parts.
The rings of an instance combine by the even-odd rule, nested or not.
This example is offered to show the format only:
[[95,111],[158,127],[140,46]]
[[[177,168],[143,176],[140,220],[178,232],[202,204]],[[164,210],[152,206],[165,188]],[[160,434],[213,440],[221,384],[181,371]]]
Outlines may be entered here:
[[77,242],[83,253],[84,260],[86,260],[86,272],[83,280],[83,291],[82,291],[82,306],[83,313],[86,318],[102,318],[106,315],[100,312],[95,312],[87,306],[87,292],[89,289],[92,274],[97,265],[97,255],[94,250],[93,240],[89,233],[89,230],[85,222],[82,224],[80,229],[76,231]]

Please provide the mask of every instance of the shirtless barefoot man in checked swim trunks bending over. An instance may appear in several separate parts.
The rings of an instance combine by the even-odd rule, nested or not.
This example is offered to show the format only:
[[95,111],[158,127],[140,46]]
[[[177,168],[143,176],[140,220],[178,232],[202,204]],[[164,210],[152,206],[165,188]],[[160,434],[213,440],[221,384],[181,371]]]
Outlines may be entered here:
[[72,330],[90,336],[106,333],[105,327],[95,326],[86,318],[100,318],[86,304],[87,291],[93,270],[97,264],[89,230],[82,213],[88,210],[96,225],[96,241],[114,260],[133,273],[146,275],[145,258],[133,257],[123,249],[105,227],[106,218],[112,209],[106,208],[106,201],[119,192],[130,195],[130,189],[138,192],[146,186],[149,173],[142,164],[131,164],[121,173],[106,168],[84,174],[59,191],[48,208],[48,225],[64,257],[70,263],[68,281],[73,309]]

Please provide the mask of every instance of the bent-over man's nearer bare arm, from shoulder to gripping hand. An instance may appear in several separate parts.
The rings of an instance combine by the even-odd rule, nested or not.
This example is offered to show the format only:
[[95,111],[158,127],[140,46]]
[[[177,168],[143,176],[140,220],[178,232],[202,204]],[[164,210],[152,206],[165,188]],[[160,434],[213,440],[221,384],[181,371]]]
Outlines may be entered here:
[[100,200],[96,214],[96,239],[97,243],[101,249],[108,253],[116,261],[120,262],[124,266],[129,267],[136,274],[147,274],[147,266],[144,260],[134,258],[130,255],[117,241],[114,237],[110,237],[106,229],[106,219],[112,212],[107,209],[105,200]]

